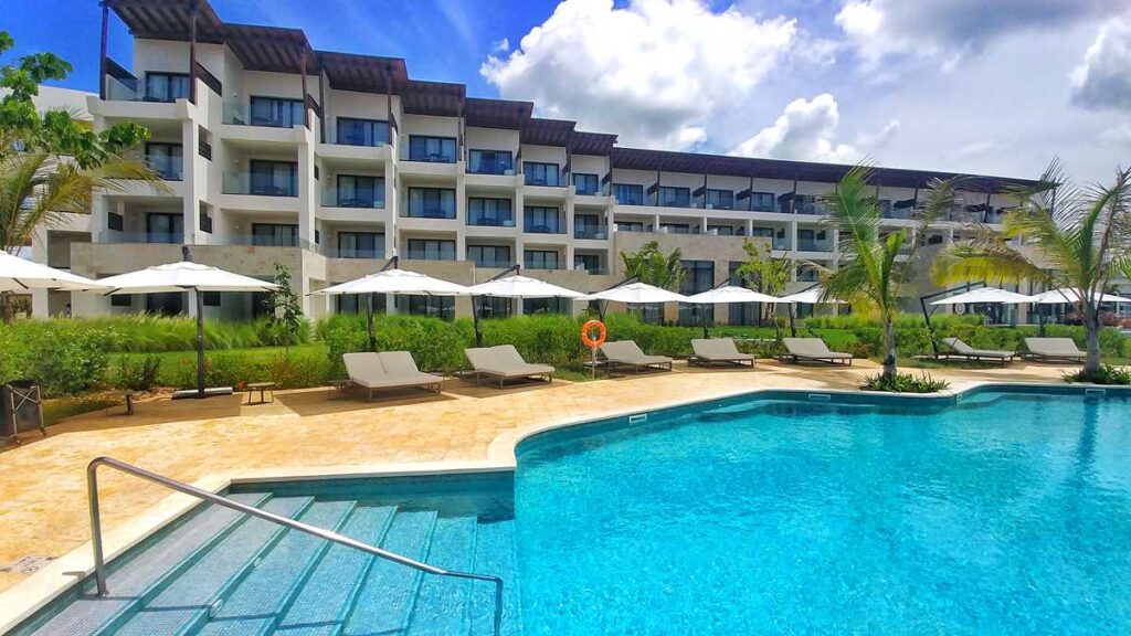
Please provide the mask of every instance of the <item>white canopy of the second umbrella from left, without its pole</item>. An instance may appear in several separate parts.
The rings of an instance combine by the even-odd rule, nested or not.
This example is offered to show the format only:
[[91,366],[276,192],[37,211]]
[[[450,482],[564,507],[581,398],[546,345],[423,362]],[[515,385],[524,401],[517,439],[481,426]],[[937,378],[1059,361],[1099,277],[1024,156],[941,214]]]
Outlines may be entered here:
[[98,283],[111,294],[159,294],[166,292],[267,292],[278,285],[225,272],[218,267],[182,260],[155,265],[137,272],[102,278]]

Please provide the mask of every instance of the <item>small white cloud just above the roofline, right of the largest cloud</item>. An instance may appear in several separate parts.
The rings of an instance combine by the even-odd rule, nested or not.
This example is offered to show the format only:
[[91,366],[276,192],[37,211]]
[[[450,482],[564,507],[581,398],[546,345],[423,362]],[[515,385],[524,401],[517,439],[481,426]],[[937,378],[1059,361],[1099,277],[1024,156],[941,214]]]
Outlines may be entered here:
[[774,126],[739,144],[729,154],[771,158],[854,163],[884,146],[899,130],[899,121],[889,121],[874,135],[857,135],[852,145],[837,143],[835,135],[840,111],[832,95],[823,93],[791,102]]

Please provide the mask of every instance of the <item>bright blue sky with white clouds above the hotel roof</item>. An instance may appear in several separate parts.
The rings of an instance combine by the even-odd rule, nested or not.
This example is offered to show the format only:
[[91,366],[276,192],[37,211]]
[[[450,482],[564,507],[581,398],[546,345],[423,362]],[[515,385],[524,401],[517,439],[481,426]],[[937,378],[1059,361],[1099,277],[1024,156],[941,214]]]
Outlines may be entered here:
[[[17,55],[53,51],[64,86],[96,87],[95,0],[2,1]],[[1060,157],[1085,181],[1131,163],[1131,0],[211,3],[627,146],[1011,177]]]

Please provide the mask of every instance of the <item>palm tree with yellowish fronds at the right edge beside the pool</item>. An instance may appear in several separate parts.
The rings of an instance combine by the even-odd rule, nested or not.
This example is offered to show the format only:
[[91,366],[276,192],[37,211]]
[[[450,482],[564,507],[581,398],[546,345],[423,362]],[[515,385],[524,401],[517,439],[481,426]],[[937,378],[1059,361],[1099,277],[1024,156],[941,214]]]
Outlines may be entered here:
[[1117,169],[1110,187],[1078,188],[1053,162],[1035,186],[1010,194],[1016,207],[1005,215],[1004,231],[986,229],[968,243],[950,246],[934,261],[934,277],[1080,290],[1088,341],[1081,376],[1094,377],[1100,368],[1100,294],[1113,274],[1131,276],[1131,169]]

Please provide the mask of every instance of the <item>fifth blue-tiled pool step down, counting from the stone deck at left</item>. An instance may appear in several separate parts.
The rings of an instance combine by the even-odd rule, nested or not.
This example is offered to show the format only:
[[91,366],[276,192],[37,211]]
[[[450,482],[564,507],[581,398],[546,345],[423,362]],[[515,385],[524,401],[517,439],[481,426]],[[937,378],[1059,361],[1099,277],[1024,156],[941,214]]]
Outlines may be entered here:
[[[381,548],[423,560],[432,541],[437,513],[398,510]],[[404,634],[420,584],[421,573],[386,559],[377,559],[354,600],[343,634]]]

